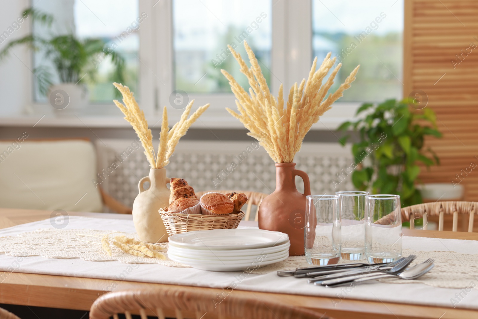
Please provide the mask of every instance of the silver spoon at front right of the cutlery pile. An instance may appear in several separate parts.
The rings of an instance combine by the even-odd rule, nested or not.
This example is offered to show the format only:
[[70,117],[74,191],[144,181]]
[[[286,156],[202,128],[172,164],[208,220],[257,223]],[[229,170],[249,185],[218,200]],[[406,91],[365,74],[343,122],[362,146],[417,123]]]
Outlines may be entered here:
[[433,259],[427,259],[423,263],[416,264],[413,267],[410,267],[399,274],[387,274],[387,273],[362,274],[362,275],[348,276],[345,278],[330,279],[330,280],[323,281],[321,283],[315,283],[315,285],[326,286],[326,287],[337,287],[337,286],[351,284],[353,282],[361,283],[363,281],[375,280],[375,279],[386,278],[386,277],[395,277],[395,278],[401,278],[401,279],[407,279],[407,280],[416,279],[426,274],[428,271],[430,271],[430,269],[432,269],[435,266],[434,262],[435,260]]

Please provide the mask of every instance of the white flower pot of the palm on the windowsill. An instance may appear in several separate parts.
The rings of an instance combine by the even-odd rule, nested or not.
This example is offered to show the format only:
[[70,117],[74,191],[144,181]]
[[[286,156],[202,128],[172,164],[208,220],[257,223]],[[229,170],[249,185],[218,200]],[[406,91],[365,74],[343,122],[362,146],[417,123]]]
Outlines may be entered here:
[[56,115],[81,113],[88,105],[88,89],[83,84],[61,83],[52,85],[48,102]]

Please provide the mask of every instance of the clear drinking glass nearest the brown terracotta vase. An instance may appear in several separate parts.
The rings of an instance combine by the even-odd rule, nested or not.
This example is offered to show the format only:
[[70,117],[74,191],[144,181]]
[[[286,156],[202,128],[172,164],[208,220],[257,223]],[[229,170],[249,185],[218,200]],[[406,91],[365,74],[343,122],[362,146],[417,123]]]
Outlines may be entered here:
[[337,195],[309,195],[305,204],[305,259],[309,264],[337,264],[340,214]]

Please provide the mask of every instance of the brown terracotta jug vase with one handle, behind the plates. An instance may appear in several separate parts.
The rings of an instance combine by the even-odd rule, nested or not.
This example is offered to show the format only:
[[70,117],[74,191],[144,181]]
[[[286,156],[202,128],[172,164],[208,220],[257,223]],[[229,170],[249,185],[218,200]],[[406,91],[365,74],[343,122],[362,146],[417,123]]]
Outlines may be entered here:
[[[259,228],[289,235],[290,256],[304,254],[305,196],[310,195],[309,176],[295,163],[276,163],[275,191],[259,205]],[[304,180],[304,194],[295,187],[295,176]]]

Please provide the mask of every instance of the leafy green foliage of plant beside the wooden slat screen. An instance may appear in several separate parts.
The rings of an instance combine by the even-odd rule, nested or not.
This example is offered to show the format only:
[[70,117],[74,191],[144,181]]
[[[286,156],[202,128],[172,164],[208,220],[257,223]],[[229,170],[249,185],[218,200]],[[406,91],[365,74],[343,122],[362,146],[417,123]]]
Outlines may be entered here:
[[[338,128],[358,132],[358,141],[352,143],[353,185],[372,194],[400,195],[403,207],[422,202],[415,187],[418,163],[427,167],[440,163],[431,148],[424,150],[425,136],[442,136],[436,129],[435,112],[430,108],[415,110],[410,107],[415,106],[413,102],[389,99],[377,105],[364,103],[357,110],[357,121],[346,121]],[[345,135],[339,142],[345,145],[349,138]]]

